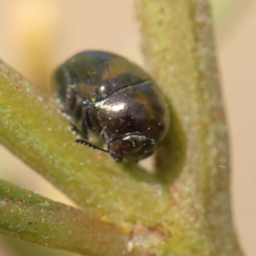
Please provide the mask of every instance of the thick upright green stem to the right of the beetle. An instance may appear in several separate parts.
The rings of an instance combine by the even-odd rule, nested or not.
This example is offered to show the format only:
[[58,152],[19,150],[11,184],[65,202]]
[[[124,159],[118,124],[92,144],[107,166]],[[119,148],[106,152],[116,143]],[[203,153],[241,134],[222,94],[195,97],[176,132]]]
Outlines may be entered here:
[[[230,213],[228,136],[208,2],[136,3],[147,67],[172,102],[186,143],[183,170],[177,176],[171,173],[170,207],[163,224],[172,236],[166,251],[241,255]],[[163,169],[170,171],[170,152],[160,149],[160,175]]]

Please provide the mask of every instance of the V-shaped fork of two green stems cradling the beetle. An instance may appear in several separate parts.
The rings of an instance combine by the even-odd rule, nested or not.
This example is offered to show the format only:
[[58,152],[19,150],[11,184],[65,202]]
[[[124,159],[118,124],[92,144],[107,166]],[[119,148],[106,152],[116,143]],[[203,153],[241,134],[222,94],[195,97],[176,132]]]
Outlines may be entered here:
[[130,231],[126,246],[140,256],[240,256],[208,3],[136,3],[147,67],[172,103],[156,175],[73,143],[54,104],[3,63],[0,142],[93,216]]

